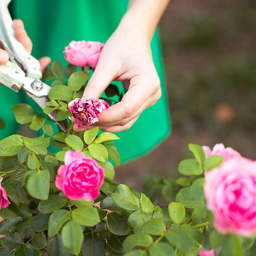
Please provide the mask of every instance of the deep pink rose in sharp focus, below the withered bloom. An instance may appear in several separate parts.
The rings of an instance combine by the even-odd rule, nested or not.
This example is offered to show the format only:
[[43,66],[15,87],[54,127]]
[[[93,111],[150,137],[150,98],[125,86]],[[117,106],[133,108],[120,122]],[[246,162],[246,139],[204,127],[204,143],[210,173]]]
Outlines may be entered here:
[[72,200],[93,201],[104,181],[104,169],[80,151],[67,151],[55,185]]

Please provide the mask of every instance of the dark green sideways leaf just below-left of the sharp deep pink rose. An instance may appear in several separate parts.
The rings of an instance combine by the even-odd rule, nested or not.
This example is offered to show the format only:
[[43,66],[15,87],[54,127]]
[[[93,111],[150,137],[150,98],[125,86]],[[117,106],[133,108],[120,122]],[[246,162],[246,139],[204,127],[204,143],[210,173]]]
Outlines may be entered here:
[[38,204],[38,210],[42,213],[51,213],[60,208],[64,207],[66,204],[66,200],[64,197],[58,195],[49,195],[47,200],[42,200]]

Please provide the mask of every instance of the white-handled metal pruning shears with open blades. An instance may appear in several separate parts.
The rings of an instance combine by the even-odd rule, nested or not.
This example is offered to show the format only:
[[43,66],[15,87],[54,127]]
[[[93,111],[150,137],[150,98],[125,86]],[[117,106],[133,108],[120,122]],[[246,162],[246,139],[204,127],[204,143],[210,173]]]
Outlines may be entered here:
[[[0,42],[10,56],[6,64],[0,65],[0,83],[15,92],[25,90],[44,109],[46,102],[50,101],[48,93],[51,87],[40,80],[42,72],[39,61],[27,53],[15,38],[12,18],[8,11],[10,2],[11,0],[0,0]],[[67,120],[56,121],[59,111],[53,110],[48,116],[62,131],[67,132]]]

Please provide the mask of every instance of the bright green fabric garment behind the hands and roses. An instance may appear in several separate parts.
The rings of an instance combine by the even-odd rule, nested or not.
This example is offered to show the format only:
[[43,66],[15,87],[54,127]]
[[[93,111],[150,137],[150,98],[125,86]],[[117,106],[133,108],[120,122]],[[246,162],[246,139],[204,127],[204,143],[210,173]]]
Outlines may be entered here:
[[[106,42],[118,26],[127,10],[126,0],[12,0],[13,18],[22,19],[25,29],[33,42],[33,56],[50,56],[67,62],[62,51],[71,40]],[[152,150],[170,131],[170,118],[164,87],[161,47],[157,32],[154,34],[151,48],[153,59],[161,80],[162,97],[152,107],[146,109],[128,131],[117,133],[121,140],[116,146],[122,161],[131,160]],[[121,83],[117,82],[121,88]],[[0,137],[16,131],[11,106],[18,102],[35,103],[22,93],[14,93],[1,87],[0,97],[4,111],[0,117],[5,120],[6,128],[0,131]],[[3,103],[4,102],[4,103]],[[37,108],[38,109],[38,108]]]

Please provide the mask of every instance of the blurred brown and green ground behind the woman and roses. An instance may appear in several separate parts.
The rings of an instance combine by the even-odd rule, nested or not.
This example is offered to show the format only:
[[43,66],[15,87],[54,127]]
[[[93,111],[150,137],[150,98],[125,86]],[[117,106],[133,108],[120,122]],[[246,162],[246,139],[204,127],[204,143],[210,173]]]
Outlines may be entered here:
[[256,1],[171,0],[159,27],[172,134],[118,167],[115,181],[177,177],[188,143],[222,142],[256,159]]

